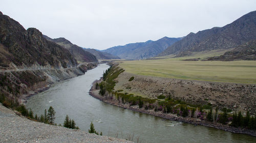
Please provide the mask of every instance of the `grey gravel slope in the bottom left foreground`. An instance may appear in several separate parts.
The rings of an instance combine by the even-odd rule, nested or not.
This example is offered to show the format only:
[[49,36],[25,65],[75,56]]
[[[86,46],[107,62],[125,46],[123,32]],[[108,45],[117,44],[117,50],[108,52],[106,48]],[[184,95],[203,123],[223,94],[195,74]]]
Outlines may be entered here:
[[0,142],[131,142],[34,122],[0,103]]

